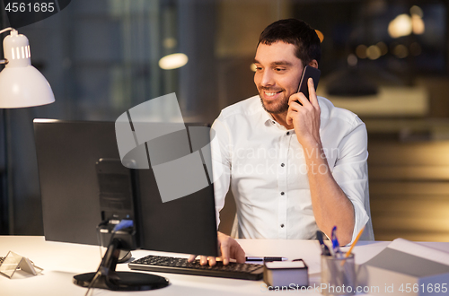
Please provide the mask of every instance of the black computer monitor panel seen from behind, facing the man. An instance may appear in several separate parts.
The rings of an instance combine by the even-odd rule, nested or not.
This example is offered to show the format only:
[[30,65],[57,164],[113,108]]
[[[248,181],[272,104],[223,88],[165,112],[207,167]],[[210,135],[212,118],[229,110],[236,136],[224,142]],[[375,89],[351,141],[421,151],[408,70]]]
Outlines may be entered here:
[[217,256],[213,184],[163,203],[153,169],[121,165],[113,122],[35,119],[34,131],[47,240],[98,245],[99,225],[116,217],[134,221],[125,248]]

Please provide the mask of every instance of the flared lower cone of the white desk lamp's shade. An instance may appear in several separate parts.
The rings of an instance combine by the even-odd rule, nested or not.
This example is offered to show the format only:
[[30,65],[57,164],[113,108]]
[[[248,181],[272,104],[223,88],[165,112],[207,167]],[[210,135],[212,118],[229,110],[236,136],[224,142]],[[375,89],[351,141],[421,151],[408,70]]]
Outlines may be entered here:
[[0,72],[0,108],[22,108],[55,101],[47,79],[32,65]]

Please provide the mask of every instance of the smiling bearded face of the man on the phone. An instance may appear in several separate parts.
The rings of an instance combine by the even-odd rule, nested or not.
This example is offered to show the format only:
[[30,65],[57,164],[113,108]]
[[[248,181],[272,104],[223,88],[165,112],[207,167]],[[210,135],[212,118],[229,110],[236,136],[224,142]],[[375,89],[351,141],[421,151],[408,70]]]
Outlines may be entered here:
[[260,43],[254,58],[254,83],[263,108],[281,114],[288,110],[288,98],[298,91],[303,63],[295,57],[293,44],[277,41],[271,45]]

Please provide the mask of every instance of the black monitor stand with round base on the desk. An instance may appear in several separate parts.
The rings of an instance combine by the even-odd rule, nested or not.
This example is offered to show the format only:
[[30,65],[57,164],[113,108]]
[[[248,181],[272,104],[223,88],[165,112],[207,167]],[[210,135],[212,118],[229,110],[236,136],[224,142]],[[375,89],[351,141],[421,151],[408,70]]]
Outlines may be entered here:
[[[147,291],[166,287],[169,281],[159,275],[136,272],[116,272],[120,239],[112,239],[96,273],[77,274],[74,283],[86,288],[112,291]],[[93,281],[93,283],[92,283]]]

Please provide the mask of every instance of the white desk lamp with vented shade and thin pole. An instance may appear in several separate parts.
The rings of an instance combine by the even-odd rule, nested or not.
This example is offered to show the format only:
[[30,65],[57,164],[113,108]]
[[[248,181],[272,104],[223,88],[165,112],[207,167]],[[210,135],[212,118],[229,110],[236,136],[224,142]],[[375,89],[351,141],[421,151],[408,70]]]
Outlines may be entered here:
[[[28,39],[14,30],[6,28],[0,34],[11,30],[4,38],[4,64],[0,72],[0,109],[33,107],[55,101],[55,96],[45,77],[31,65],[31,51]],[[8,200],[9,232],[13,234],[13,157],[11,154],[11,133],[8,110],[4,110],[5,136],[5,192]]]

